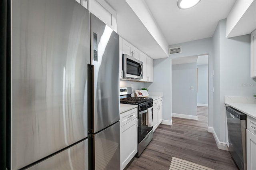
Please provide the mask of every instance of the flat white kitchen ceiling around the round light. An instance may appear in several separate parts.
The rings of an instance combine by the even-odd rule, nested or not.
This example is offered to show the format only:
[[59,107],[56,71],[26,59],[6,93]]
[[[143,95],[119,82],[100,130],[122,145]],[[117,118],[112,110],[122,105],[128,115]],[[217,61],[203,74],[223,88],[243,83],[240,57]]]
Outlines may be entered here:
[[218,21],[227,18],[236,0],[201,0],[187,10],[177,0],[146,0],[169,45],[210,38]]

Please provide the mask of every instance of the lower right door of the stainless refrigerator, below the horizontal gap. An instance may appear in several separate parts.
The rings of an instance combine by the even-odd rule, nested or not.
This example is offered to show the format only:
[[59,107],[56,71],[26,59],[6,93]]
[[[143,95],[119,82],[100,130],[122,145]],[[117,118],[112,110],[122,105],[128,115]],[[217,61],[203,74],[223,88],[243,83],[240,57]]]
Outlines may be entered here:
[[[120,122],[92,134],[96,170],[120,170]],[[92,165],[93,166],[93,165]]]

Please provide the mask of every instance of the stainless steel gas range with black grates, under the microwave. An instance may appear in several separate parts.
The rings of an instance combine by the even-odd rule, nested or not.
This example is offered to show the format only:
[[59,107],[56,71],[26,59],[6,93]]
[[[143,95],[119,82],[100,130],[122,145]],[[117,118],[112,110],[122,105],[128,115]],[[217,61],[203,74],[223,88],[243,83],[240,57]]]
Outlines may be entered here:
[[148,109],[152,111],[153,118],[153,99],[149,97],[131,97],[131,87],[120,87],[120,103],[138,105],[138,153],[140,157],[142,152],[153,139],[153,126],[147,125]]

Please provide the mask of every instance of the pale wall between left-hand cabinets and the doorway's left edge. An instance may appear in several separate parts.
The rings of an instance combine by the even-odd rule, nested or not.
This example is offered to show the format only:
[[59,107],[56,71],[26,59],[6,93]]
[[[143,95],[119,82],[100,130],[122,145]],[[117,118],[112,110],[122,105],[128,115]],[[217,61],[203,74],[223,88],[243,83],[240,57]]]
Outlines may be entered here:
[[164,94],[164,103],[163,119],[166,121],[172,120],[172,107],[171,107],[171,59],[170,57],[164,59],[155,59],[154,60],[154,82],[145,83],[146,88],[148,88],[148,93],[150,92],[163,92]]

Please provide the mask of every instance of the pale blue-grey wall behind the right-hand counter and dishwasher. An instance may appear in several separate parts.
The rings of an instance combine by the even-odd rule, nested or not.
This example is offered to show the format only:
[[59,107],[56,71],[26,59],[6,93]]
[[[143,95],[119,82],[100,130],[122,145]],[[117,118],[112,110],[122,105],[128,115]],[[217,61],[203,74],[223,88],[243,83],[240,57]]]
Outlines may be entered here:
[[256,93],[256,83],[250,77],[250,35],[226,38],[226,19],[220,20],[213,36],[213,59],[213,128],[220,142],[226,142],[224,96]]

